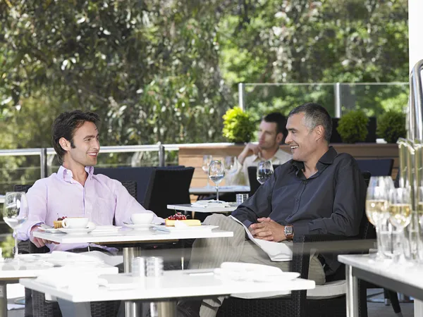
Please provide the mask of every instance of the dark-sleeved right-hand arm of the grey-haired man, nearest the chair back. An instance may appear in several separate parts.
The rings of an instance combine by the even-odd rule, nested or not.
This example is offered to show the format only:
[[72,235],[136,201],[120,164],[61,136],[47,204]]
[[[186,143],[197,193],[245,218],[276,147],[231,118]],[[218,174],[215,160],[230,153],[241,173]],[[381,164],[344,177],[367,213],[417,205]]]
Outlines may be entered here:
[[358,234],[364,210],[366,185],[357,163],[351,158],[337,173],[333,212],[329,218],[319,218],[293,226],[295,235]]

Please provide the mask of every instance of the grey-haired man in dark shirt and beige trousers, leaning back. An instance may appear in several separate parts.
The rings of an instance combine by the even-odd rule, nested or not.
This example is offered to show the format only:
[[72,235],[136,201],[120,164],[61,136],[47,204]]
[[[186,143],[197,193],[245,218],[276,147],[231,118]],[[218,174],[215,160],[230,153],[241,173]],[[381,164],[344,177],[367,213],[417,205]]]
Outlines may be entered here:
[[[357,162],[350,154],[338,154],[329,147],[332,121],[319,104],[303,104],[288,116],[288,136],[293,159],[280,166],[232,216],[245,225],[256,239],[286,242],[294,235],[345,235],[359,232],[366,185]],[[257,245],[245,239],[245,229],[231,217],[209,216],[204,223],[233,231],[233,237],[197,239],[190,268],[217,268],[226,261],[259,263],[290,270],[290,261],[269,259]],[[314,254],[309,279],[324,284],[340,264],[331,256]],[[182,301],[180,316],[216,316],[219,299]],[[200,309],[201,306],[201,309]]]

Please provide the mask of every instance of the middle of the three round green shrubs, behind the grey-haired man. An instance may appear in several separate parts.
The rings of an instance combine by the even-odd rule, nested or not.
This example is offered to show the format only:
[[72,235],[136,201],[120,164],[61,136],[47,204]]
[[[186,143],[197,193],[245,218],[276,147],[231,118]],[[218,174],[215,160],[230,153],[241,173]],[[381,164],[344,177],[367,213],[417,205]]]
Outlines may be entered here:
[[342,142],[364,142],[367,137],[369,118],[361,110],[350,111],[339,119],[338,130]]

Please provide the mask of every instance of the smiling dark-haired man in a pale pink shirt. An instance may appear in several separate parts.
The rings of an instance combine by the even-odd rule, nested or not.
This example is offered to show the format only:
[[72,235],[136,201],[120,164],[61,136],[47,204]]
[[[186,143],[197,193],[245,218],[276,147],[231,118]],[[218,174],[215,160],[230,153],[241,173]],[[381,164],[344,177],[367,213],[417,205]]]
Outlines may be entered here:
[[[48,178],[37,180],[27,192],[28,219],[18,230],[19,240],[30,239],[37,247],[51,251],[104,251],[117,249],[96,244],[55,244],[34,237],[42,223],[54,225],[59,217],[85,217],[96,225],[123,225],[132,213],[145,210],[118,180],[94,175],[100,150],[97,113],[72,111],[61,113],[51,128],[54,150],[61,167]],[[163,222],[154,215],[153,222]],[[64,316],[90,316],[89,303],[75,304],[59,300]],[[66,307],[66,308],[64,308]]]

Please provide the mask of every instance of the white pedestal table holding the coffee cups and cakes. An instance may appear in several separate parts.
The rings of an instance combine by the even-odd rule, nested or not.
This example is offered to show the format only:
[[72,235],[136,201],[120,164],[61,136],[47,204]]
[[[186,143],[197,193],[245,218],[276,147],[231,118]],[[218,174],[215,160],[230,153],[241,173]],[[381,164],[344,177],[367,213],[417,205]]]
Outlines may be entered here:
[[[185,230],[182,232],[163,232],[159,230],[131,230],[123,228],[111,234],[88,232],[84,235],[69,235],[67,233],[34,232],[35,237],[59,243],[97,243],[107,244],[142,244],[152,242],[169,242],[181,239],[233,237],[233,232],[223,230]],[[131,261],[135,256],[140,256],[139,247],[125,247],[123,245],[123,271],[131,272]],[[137,305],[134,302],[125,302],[125,316],[138,316]]]

